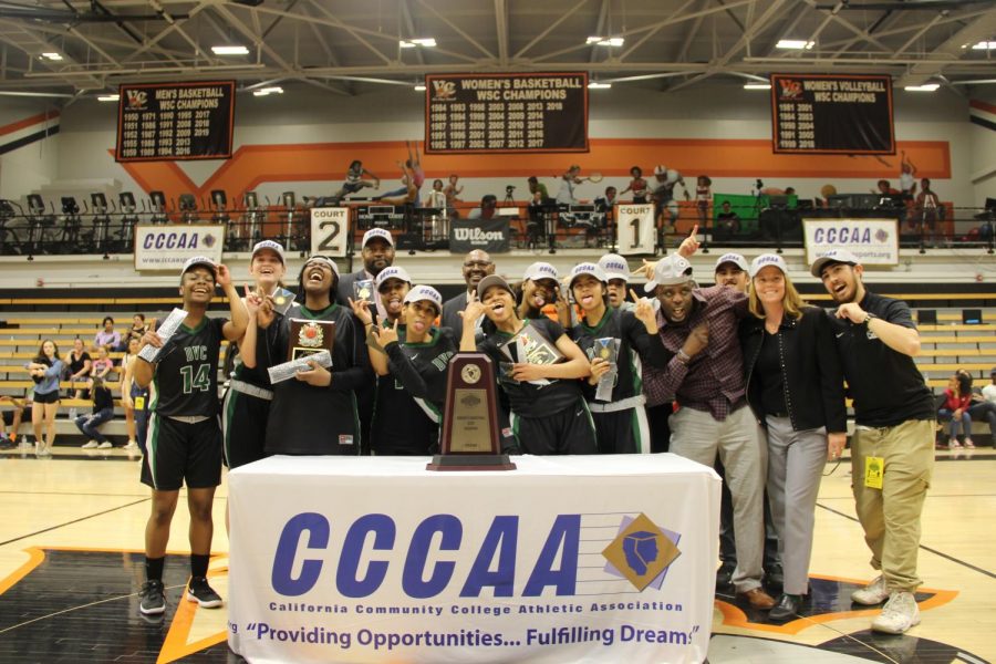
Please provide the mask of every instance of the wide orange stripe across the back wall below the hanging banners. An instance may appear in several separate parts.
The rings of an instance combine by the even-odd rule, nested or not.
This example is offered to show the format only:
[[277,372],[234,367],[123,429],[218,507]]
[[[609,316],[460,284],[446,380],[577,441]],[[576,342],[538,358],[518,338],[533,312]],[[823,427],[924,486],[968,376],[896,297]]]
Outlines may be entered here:
[[[899,144],[916,164],[917,176],[936,179],[951,177],[951,148],[945,141],[910,141]],[[113,154],[113,152],[112,152]],[[167,198],[176,199],[190,193],[207,196],[211,189],[224,189],[229,197],[240,197],[262,183],[313,181],[313,194],[333,194],[342,183],[353,159],[381,177],[381,190],[400,186],[397,162],[407,152],[403,142],[311,143],[281,145],[243,145],[231,159],[197,187],[174,162],[122,164],[128,174],[147,191],[162,189]],[[776,155],[767,139],[704,139],[704,138],[596,138],[588,154],[536,155],[429,155],[423,156],[426,179],[444,179],[450,174],[460,177],[508,178],[521,185],[530,175],[548,181],[559,177],[571,164],[579,164],[583,173],[601,172],[609,177],[629,177],[630,167],[640,165],[645,177],[652,177],[655,164],[679,169],[689,186],[695,176],[778,178],[778,186],[793,179],[816,178],[833,183],[837,179],[867,179],[869,189],[879,178],[899,178],[895,156],[844,155]],[[772,183],[774,184],[774,183]],[[551,191],[553,194],[554,191]]]

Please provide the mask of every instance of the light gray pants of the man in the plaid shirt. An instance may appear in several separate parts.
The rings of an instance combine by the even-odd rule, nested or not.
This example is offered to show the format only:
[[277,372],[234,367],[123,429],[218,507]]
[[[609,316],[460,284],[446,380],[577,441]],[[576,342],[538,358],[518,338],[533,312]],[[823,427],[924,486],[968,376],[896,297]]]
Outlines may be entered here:
[[670,423],[674,454],[709,468],[719,455],[734,506],[737,569],[733,583],[737,592],[760,588],[767,450],[750,408],[737,408],[719,422],[709,413],[684,407]]

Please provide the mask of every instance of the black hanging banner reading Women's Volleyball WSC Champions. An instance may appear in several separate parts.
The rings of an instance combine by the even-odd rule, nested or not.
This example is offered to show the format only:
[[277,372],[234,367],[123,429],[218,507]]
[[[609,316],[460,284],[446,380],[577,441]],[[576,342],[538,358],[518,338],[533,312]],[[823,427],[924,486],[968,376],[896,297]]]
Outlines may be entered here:
[[888,75],[771,74],[776,154],[894,155]]

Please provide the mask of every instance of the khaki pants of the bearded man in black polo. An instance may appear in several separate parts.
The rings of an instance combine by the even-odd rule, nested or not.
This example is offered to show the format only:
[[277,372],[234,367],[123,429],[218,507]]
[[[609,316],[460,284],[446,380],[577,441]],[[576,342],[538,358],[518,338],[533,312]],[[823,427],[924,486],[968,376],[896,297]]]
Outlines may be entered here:
[[[864,459],[885,459],[881,489],[864,486]],[[851,442],[851,470],[858,519],[890,590],[914,591],[920,549],[920,515],[934,469],[934,423],[911,419],[898,426],[858,426]]]

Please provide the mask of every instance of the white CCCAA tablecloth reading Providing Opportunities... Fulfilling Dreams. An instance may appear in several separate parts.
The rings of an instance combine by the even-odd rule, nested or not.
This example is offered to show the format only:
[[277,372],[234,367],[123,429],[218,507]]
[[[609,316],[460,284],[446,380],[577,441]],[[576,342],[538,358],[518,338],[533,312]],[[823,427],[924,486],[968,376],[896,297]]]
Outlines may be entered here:
[[[674,455],[270,457],[229,475],[253,663],[702,662],[719,479]],[[417,499],[413,499],[417,497]]]

